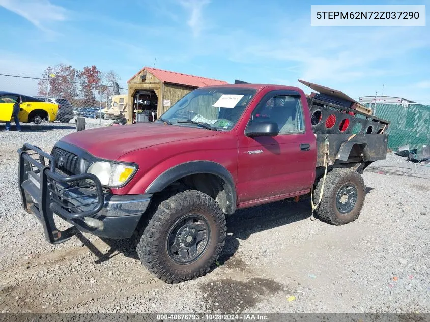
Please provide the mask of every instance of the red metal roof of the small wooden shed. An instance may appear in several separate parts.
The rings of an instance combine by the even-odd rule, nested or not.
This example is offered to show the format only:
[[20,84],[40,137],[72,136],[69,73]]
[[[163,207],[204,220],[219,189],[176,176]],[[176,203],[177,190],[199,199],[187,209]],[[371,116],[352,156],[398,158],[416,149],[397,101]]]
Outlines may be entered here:
[[163,83],[173,83],[173,84],[180,84],[180,85],[186,85],[191,87],[204,87],[204,86],[227,84],[227,82],[223,80],[194,76],[194,75],[187,75],[187,74],[171,72],[171,71],[152,68],[152,67],[142,68],[133,77],[131,77],[127,81],[127,83],[129,83],[133,78],[135,78],[143,71],[147,71],[153,74]]

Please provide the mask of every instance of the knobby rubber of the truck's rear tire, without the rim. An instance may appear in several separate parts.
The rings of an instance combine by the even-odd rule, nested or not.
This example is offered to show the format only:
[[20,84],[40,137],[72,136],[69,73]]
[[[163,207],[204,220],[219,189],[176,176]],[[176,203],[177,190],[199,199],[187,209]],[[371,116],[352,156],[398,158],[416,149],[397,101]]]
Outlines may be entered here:
[[[342,186],[347,183],[355,186],[357,198],[354,207],[350,212],[341,213],[336,206],[337,193]],[[314,204],[318,203],[322,186],[323,178],[318,181],[317,187],[313,191]],[[366,186],[364,185],[364,180],[357,171],[349,168],[334,168],[332,171],[327,173],[323,198],[319,207],[316,209],[316,215],[321,220],[336,226],[352,222],[360,215],[365,194]]]

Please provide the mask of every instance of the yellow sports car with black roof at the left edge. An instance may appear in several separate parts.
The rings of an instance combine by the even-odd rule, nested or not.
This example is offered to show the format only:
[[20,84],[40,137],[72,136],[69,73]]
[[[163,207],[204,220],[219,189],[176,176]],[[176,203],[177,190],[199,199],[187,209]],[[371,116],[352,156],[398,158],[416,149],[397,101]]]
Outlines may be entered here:
[[12,121],[13,105],[19,102],[19,122],[40,124],[43,120],[54,122],[58,105],[31,96],[0,91],[0,121]]

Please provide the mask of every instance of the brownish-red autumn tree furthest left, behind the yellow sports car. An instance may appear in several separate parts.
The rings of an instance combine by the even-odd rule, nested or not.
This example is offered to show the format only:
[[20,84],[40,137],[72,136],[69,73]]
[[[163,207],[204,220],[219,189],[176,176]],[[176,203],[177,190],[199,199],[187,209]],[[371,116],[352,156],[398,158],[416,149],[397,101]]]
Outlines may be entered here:
[[[63,97],[68,100],[78,96],[79,72],[71,65],[49,66],[42,76],[44,79],[39,80],[38,83],[39,95]],[[47,81],[49,81],[49,89]]]

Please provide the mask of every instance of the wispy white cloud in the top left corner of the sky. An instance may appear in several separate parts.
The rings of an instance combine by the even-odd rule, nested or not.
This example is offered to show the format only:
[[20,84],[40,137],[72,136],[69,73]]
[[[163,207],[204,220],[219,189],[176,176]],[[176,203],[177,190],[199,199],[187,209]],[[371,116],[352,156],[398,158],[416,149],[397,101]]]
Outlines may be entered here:
[[0,0],[0,6],[24,17],[36,27],[47,31],[45,24],[67,20],[66,9],[49,0]]

